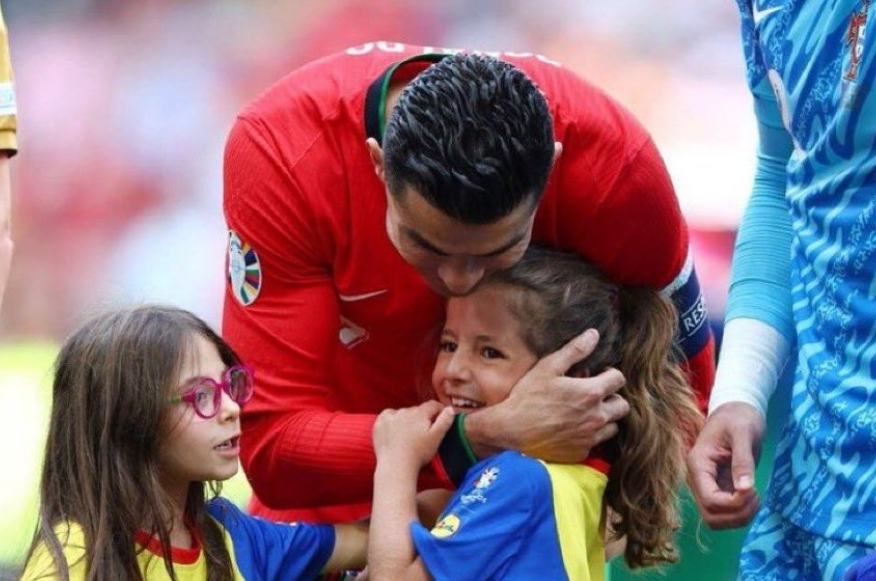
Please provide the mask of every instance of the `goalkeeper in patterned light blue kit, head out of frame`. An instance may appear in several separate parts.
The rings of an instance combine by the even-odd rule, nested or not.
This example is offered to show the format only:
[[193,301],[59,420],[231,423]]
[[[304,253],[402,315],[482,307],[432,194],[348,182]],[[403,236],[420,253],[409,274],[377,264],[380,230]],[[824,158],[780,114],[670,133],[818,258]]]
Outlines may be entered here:
[[876,546],[876,7],[738,1],[760,147],[691,485],[710,526],[751,519],[766,402],[791,361],[739,579],[840,580]]

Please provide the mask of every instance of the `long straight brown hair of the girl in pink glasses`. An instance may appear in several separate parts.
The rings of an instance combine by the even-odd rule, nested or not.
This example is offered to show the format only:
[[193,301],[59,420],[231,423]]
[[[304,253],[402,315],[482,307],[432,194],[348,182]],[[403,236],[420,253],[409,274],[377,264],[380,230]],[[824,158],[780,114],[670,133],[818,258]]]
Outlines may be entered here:
[[[55,364],[52,413],[40,481],[39,523],[30,557],[43,545],[54,560],[47,576],[69,580],[66,536],[85,539],[85,579],[142,581],[134,534],[157,536],[170,555],[171,500],[159,482],[157,450],[167,434],[167,401],[194,340],[209,340],[226,365],[239,360],[209,326],[187,311],[143,306],[114,311],[70,337]],[[203,482],[189,486],[185,518],[201,538],[210,581],[231,581],[231,557],[206,512]],[[212,486],[218,492],[218,484]]]

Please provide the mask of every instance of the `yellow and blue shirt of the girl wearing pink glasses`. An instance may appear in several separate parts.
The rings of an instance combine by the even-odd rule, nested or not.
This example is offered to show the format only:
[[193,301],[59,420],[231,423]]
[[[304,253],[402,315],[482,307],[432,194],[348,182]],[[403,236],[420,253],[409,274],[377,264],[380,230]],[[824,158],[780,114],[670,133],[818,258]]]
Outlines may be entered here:
[[[208,503],[208,512],[222,528],[236,581],[291,581],[314,579],[334,550],[331,525],[280,524],[244,514],[225,499]],[[76,523],[60,527],[59,538],[70,565],[70,581],[85,579],[85,539]],[[170,581],[160,547],[154,539],[138,536],[137,561],[143,578]],[[174,548],[171,559],[179,581],[207,579],[207,561],[200,547]],[[21,581],[57,579],[55,563],[45,547],[38,547]]]

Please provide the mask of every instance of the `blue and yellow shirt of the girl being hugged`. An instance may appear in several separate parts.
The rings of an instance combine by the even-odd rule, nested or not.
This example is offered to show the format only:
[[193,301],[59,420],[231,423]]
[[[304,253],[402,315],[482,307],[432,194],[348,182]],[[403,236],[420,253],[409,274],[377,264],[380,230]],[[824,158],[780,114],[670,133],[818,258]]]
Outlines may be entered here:
[[502,452],[468,471],[432,530],[411,524],[414,545],[436,581],[602,581],[606,480]]

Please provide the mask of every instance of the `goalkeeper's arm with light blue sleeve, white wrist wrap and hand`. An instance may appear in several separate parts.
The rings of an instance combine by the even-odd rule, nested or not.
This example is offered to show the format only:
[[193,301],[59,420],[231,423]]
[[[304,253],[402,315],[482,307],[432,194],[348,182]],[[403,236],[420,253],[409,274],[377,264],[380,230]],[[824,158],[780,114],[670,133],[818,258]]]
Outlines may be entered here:
[[725,342],[710,415],[688,456],[689,483],[712,528],[747,524],[758,506],[754,468],[766,402],[794,343],[793,231],[785,168],[793,145],[766,78],[755,86],[760,147],[733,252]]

